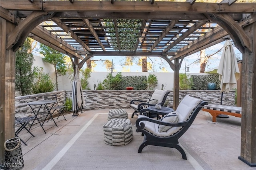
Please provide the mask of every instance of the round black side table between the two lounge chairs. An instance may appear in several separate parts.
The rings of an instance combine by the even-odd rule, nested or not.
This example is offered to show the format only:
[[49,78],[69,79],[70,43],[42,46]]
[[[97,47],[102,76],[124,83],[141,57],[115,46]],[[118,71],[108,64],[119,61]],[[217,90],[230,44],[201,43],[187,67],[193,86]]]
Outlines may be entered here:
[[162,115],[162,117],[170,112],[174,111],[174,109],[170,107],[164,107],[162,106],[161,109],[156,109],[154,106],[150,106],[148,108],[144,108],[140,110],[140,115],[143,115],[143,113],[147,113],[148,117],[151,117],[150,114],[155,114],[156,119],[158,120],[159,115]]

